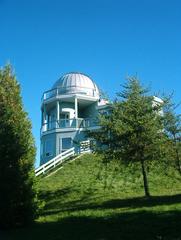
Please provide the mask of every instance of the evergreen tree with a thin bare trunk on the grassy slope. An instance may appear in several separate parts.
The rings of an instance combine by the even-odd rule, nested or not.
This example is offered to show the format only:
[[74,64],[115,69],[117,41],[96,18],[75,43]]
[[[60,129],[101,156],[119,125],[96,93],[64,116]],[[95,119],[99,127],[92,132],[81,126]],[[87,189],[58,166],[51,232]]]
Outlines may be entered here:
[[105,161],[140,162],[145,196],[150,196],[147,161],[158,160],[163,141],[161,105],[131,77],[118,93],[112,113],[100,118],[102,129],[92,136],[100,142]]

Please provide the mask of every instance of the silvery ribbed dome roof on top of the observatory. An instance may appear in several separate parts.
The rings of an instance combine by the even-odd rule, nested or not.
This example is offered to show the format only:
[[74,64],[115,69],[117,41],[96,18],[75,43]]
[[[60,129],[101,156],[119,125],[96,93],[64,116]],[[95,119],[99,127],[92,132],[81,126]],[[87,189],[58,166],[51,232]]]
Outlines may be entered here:
[[71,72],[60,77],[52,87],[60,94],[78,93],[99,97],[99,90],[94,81],[85,74]]

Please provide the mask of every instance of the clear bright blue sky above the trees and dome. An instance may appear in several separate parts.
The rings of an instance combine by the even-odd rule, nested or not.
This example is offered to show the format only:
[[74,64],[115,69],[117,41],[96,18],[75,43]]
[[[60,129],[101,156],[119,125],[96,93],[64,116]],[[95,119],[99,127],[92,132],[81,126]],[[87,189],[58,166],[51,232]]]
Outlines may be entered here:
[[180,11],[179,0],[0,0],[0,66],[21,83],[37,164],[41,96],[64,73],[90,75],[111,98],[137,73],[181,100]]

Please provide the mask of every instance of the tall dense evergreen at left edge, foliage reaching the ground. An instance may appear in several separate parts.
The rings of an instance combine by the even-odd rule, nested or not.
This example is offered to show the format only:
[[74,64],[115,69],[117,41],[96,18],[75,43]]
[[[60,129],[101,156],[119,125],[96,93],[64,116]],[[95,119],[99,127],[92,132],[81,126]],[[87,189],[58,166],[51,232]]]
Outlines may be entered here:
[[35,145],[10,65],[0,70],[0,227],[30,223],[38,209]]

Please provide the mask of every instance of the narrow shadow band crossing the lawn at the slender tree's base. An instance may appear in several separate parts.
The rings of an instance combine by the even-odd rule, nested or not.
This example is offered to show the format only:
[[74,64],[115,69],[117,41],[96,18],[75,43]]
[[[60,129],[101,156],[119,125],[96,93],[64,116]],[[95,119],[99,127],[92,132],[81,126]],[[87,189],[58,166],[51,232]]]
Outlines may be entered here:
[[[84,203],[85,197],[80,200],[69,201],[66,203],[61,203],[60,201],[55,203],[47,203],[48,212],[44,212],[42,215],[57,214],[64,211],[73,212],[81,210],[104,210],[104,209],[116,209],[116,208],[142,208],[142,207],[154,207],[161,205],[171,205],[176,203],[181,203],[181,194],[172,196],[153,196],[151,198],[136,197],[127,199],[113,199],[110,201],[105,201],[101,204]],[[54,209],[56,207],[56,209]]]

